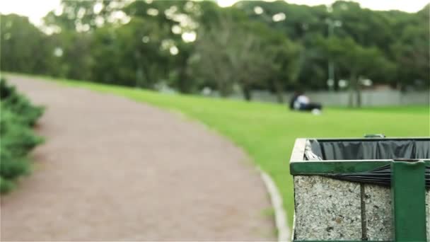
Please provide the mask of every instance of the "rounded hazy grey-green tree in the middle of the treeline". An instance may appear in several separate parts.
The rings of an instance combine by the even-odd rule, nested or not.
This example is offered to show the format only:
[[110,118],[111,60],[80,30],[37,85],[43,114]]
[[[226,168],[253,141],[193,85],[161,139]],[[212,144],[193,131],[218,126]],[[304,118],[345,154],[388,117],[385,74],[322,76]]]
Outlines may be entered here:
[[234,8],[223,11],[217,22],[199,32],[194,73],[215,81],[221,96],[238,83],[246,100],[252,98],[253,86],[267,88],[272,79],[281,100],[283,81],[294,76],[296,45],[267,25],[243,21],[243,13]]

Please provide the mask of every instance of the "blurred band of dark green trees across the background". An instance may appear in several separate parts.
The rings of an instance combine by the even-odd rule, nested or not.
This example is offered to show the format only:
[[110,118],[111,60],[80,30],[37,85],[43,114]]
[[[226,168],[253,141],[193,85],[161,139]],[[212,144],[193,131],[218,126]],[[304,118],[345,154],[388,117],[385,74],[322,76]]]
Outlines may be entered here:
[[[1,70],[182,93],[429,88],[429,6],[351,1],[62,1],[37,28],[1,16]],[[327,81],[328,80],[328,81]],[[347,85],[339,83],[347,80]],[[342,85],[343,84],[343,85]]]

